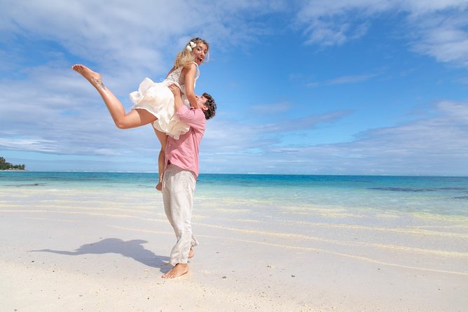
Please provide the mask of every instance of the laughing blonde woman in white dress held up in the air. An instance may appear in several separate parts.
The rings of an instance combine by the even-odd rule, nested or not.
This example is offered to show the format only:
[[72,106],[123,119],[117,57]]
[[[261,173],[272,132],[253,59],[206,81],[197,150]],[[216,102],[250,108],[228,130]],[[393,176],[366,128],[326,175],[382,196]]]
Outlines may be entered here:
[[71,69],[81,73],[96,88],[104,100],[113,122],[119,129],[153,124],[154,131],[161,143],[158,157],[159,180],[156,190],[161,190],[167,135],[178,139],[181,134],[188,131],[188,125],[179,122],[177,115],[174,114],[174,96],[168,86],[175,84],[181,89],[186,106],[198,107],[197,96],[194,92],[195,82],[199,76],[198,66],[205,61],[208,50],[207,41],[201,38],[191,39],[185,48],[177,54],[174,66],[167,73],[163,82],[154,83],[151,79],[145,78],[140,83],[138,91],[130,94],[130,99],[135,105],[129,113],[125,113],[121,101],[102,83],[99,73],[81,64],[71,66]]

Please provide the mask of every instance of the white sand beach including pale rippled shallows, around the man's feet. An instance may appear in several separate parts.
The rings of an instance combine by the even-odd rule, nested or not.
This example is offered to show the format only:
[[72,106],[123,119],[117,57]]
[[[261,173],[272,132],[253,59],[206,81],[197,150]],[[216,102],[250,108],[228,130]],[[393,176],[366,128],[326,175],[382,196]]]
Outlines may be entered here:
[[198,197],[193,230],[201,244],[191,271],[167,280],[160,276],[170,269],[174,234],[158,192],[17,190],[0,192],[1,311],[468,306],[466,221],[389,212],[361,216],[378,218],[373,226],[356,225],[340,209],[312,207],[328,221],[275,223],[268,214],[246,218],[244,201]]

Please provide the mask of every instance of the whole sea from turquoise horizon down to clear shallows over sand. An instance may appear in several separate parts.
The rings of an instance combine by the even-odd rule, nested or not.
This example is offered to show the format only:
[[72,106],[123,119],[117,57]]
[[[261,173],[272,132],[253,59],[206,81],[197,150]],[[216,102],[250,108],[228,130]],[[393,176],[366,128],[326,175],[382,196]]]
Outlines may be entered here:
[[[0,220],[32,224],[46,238],[46,225],[76,236],[93,225],[99,237],[150,241],[172,234],[156,181],[156,173],[2,171]],[[306,261],[327,253],[468,276],[468,177],[200,174],[192,226],[224,253],[241,243]]]

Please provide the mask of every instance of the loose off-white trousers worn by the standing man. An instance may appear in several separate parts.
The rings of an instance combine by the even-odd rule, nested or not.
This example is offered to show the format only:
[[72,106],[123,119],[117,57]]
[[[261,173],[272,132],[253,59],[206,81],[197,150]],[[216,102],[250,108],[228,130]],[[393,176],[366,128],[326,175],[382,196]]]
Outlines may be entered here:
[[190,248],[198,245],[191,225],[195,185],[195,176],[191,171],[170,164],[164,172],[164,211],[177,237],[170,255],[172,265],[187,263]]

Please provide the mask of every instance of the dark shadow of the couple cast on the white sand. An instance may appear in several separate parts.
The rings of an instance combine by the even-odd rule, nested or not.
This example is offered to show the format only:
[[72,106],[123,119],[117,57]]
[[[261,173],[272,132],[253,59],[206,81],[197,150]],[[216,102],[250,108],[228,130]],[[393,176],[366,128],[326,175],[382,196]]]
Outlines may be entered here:
[[102,239],[95,243],[87,243],[74,251],[67,250],[29,250],[29,252],[57,253],[59,255],[102,255],[104,253],[116,253],[124,257],[145,264],[148,267],[163,269],[169,262],[169,257],[155,255],[147,250],[142,244],[148,243],[142,239],[133,239],[132,241],[123,241],[121,239]]

